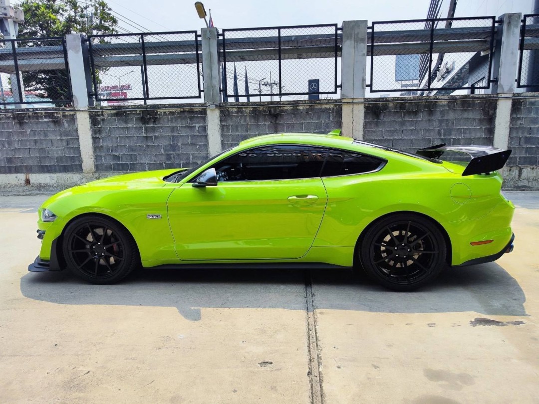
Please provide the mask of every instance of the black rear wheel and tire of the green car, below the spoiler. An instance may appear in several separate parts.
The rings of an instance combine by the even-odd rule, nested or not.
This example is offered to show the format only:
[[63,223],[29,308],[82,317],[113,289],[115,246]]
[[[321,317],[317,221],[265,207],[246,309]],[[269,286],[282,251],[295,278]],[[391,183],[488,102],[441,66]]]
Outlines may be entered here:
[[375,222],[358,247],[365,273],[392,290],[420,288],[446,265],[446,243],[440,229],[414,213],[396,213]]

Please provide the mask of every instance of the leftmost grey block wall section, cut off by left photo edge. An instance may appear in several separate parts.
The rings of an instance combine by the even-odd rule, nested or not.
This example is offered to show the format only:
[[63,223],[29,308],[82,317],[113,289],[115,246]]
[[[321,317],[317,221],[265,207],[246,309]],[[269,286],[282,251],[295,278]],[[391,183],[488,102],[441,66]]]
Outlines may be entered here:
[[81,170],[73,112],[0,113],[0,174]]

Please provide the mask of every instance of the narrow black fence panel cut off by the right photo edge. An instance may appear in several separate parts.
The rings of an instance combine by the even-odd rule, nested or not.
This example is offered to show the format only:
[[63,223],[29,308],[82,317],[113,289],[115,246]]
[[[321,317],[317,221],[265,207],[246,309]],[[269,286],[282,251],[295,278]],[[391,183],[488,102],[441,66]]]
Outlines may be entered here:
[[539,88],[539,14],[522,16],[516,85]]

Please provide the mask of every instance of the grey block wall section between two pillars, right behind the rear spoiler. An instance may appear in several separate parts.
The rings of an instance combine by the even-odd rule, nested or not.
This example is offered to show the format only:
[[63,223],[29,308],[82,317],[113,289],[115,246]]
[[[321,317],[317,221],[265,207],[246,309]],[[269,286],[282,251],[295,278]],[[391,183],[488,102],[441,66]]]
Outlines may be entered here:
[[384,99],[365,104],[364,140],[416,151],[434,144],[493,144],[496,100],[418,101],[417,97]]

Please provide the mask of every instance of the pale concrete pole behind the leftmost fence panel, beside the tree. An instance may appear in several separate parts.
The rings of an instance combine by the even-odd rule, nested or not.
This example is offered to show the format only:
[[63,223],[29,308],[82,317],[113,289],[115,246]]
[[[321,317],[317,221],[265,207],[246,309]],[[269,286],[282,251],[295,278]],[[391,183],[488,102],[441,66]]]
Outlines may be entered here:
[[[4,39],[17,39],[17,32],[19,31],[19,23],[24,23],[23,10],[14,10],[10,4],[10,0],[0,0],[0,31],[4,36]],[[17,41],[13,41],[11,48],[16,52]],[[15,63],[15,60],[13,60]],[[21,108],[22,105],[17,102],[25,102],[26,96],[24,94],[24,83],[22,74],[17,72],[11,73],[11,93],[13,94],[13,101],[15,101],[15,108]],[[19,88],[20,84],[20,88]],[[4,88],[2,86],[2,98]]]

